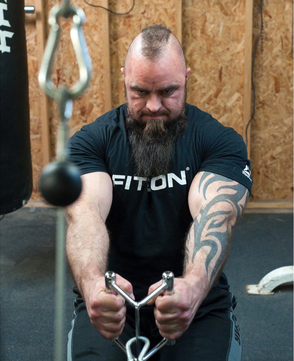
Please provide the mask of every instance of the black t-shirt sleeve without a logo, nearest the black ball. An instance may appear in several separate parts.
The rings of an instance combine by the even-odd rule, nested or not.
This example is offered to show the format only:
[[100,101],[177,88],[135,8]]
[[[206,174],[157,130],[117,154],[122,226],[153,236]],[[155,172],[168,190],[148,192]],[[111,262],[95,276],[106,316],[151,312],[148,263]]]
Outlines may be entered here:
[[67,143],[69,160],[78,166],[80,174],[105,172],[108,169],[105,161],[106,139],[102,129],[95,128],[95,139],[89,125],[77,131]]

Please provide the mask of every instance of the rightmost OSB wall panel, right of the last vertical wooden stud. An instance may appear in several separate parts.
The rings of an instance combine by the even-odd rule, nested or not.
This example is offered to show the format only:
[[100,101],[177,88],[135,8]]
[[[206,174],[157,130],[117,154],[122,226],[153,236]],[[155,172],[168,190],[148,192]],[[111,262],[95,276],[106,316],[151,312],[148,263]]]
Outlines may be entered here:
[[[260,32],[253,7],[253,44]],[[263,2],[263,36],[254,66],[256,108],[251,126],[255,198],[293,197],[293,1]]]

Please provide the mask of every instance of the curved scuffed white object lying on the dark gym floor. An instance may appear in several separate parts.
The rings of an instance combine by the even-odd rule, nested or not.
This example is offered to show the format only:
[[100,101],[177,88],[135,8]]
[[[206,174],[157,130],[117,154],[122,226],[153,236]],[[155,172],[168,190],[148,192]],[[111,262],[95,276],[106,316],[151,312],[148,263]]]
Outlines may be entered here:
[[293,282],[293,266],[276,268],[266,274],[259,284],[247,284],[248,295],[274,295],[273,290],[286,282]]

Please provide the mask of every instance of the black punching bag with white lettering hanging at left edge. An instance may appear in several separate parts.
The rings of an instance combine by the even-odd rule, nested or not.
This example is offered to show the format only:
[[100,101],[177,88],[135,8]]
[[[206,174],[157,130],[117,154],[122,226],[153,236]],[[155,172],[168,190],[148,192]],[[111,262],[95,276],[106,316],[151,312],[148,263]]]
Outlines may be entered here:
[[33,180],[24,1],[0,2],[0,214],[6,214],[27,203]]

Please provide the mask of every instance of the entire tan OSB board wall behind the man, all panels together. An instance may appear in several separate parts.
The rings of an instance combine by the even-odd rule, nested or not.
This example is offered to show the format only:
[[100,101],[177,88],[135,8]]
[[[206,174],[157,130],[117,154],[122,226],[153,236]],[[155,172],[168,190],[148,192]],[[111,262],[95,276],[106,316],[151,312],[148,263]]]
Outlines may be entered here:
[[[128,45],[142,27],[166,23],[176,30],[176,2],[179,0],[136,0],[131,13],[125,16],[109,14],[110,82],[112,108],[124,102],[123,75],[120,68]],[[244,31],[246,0],[183,0],[182,45],[187,66],[192,70],[188,79],[188,102],[209,112],[226,126],[233,126],[243,135],[244,99]],[[33,1],[27,5],[33,5]],[[86,43],[93,64],[93,79],[86,94],[74,101],[70,121],[71,135],[86,123],[106,112],[107,73],[103,61],[102,18],[105,10],[93,8],[82,0],[72,0],[84,9]],[[57,0],[45,0],[46,32],[48,13]],[[103,5],[106,1],[92,1]],[[115,12],[126,12],[132,0],[108,2]],[[253,8],[253,45],[259,31],[258,1]],[[256,116],[252,122],[251,161],[253,193],[256,199],[293,197],[293,58],[291,58],[291,24],[293,1],[265,0],[263,52],[257,52],[255,62]],[[31,148],[34,187],[31,199],[41,199],[37,183],[43,166],[40,130],[40,99],[38,86],[37,35],[35,15],[26,15],[26,36],[29,59],[29,95],[31,111]],[[61,21],[63,33],[52,78],[56,85],[73,85],[78,69],[69,38],[70,20]],[[265,35],[266,34],[266,35]],[[105,38],[105,36],[104,36]],[[55,156],[57,106],[49,101],[50,153]],[[249,119],[248,119],[249,120]],[[282,140],[282,141],[281,141]]]

